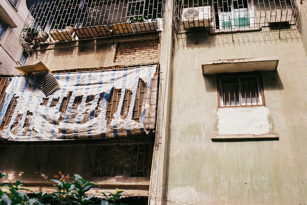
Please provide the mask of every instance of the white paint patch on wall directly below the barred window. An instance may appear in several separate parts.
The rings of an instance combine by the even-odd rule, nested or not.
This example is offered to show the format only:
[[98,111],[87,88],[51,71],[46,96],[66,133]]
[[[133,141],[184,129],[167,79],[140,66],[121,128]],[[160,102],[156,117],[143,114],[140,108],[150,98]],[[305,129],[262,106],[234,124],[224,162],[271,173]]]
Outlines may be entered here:
[[219,108],[219,135],[262,135],[271,131],[269,109],[265,106]]

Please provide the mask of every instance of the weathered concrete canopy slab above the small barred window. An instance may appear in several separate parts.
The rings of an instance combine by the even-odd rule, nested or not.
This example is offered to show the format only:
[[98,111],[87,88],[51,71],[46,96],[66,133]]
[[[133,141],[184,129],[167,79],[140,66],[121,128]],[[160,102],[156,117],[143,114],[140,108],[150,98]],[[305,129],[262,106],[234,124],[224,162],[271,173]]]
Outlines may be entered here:
[[277,70],[278,57],[241,58],[203,61],[203,74]]

